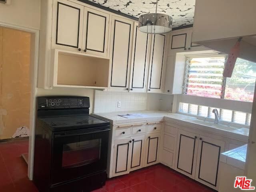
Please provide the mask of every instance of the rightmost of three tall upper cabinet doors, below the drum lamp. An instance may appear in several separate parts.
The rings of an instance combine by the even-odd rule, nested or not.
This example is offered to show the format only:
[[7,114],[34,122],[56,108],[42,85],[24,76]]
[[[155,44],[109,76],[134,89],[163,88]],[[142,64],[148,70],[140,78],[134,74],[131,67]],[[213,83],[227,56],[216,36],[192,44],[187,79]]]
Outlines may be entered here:
[[147,90],[149,93],[162,92],[165,42],[165,35],[152,36]]

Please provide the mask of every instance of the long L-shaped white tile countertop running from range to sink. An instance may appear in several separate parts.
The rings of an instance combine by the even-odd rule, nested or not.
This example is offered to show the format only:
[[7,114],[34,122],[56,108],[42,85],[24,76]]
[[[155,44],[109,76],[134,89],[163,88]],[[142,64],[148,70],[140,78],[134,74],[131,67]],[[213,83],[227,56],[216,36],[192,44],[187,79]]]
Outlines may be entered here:
[[[138,116],[132,116],[132,118],[124,118],[119,115],[125,114],[138,114]],[[218,129],[194,122],[190,122],[189,120],[196,119],[192,116],[187,116],[183,114],[170,113],[165,111],[129,111],[129,112],[109,112],[109,113],[96,113],[92,114],[92,116],[102,118],[104,120],[109,121],[112,125],[117,124],[128,124],[133,122],[152,122],[152,121],[170,121],[176,124],[180,124],[183,126],[192,127],[202,131],[211,132],[214,134],[219,134],[228,138],[238,139],[247,142],[248,141],[248,128],[239,128],[237,130],[227,131],[223,129]]]

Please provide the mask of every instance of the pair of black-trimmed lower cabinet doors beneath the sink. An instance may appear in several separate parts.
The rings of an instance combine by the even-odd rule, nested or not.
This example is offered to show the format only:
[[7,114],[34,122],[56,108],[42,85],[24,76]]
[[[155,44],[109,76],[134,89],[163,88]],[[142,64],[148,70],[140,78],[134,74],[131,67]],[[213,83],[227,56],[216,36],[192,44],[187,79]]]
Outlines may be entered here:
[[175,170],[218,190],[220,154],[225,142],[179,130]]

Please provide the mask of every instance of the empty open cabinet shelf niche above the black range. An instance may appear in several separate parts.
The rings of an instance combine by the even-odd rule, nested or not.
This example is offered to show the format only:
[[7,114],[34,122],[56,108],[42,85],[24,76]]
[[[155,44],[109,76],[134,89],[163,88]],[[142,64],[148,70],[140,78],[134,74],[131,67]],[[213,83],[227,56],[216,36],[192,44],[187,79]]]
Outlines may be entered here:
[[99,89],[108,87],[109,59],[58,49],[53,51],[53,86]]

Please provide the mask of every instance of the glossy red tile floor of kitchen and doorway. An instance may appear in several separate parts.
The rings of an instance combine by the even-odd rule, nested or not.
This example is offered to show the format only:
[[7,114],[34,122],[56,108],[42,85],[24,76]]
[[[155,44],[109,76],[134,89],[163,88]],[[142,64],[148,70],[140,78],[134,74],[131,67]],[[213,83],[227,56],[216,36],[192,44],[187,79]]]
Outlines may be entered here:
[[[0,143],[0,192],[38,192],[28,180],[27,165],[21,154],[28,141]],[[212,192],[163,165],[155,165],[112,178],[94,192]]]

